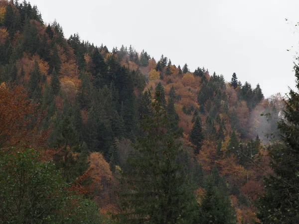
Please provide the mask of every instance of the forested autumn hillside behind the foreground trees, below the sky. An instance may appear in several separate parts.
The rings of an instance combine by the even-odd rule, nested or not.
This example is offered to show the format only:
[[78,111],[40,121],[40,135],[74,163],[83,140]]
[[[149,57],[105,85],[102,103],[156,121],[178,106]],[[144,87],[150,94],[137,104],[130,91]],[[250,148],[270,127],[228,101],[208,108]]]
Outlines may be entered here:
[[0,147],[35,148],[102,217],[122,211],[119,178],[158,92],[197,204],[218,172],[236,221],[259,222],[263,170],[272,172],[264,144],[279,135],[283,97],[265,99],[259,85],[242,84],[235,73],[229,82],[211,74],[132,46],[109,51],[78,34],[66,38],[57,21],[43,23],[36,6],[0,1]]

